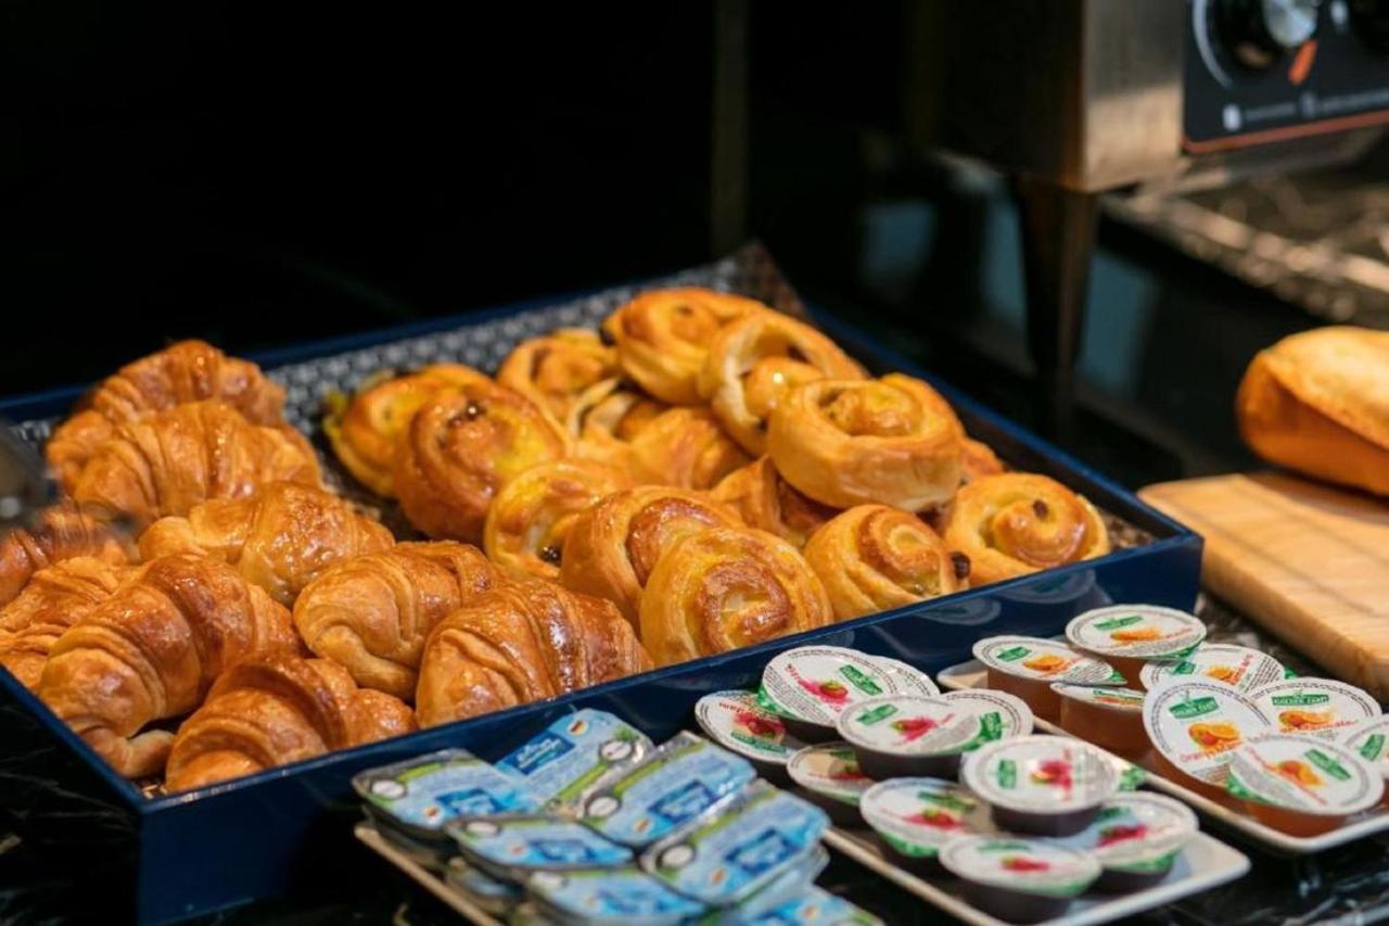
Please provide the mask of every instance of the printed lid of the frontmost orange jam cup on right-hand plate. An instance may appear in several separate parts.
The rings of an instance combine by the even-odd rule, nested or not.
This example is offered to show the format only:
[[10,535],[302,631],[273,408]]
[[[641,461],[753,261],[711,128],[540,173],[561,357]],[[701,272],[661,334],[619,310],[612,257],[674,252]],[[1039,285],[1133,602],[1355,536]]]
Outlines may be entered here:
[[1372,765],[1345,747],[1272,733],[1233,751],[1225,787],[1246,801],[1342,816],[1378,804],[1385,783]]

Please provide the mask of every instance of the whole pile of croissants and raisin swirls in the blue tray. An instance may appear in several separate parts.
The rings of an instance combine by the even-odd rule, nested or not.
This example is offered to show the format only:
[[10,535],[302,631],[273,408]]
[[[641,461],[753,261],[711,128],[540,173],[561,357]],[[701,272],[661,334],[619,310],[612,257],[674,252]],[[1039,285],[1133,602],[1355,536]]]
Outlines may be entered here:
[[643,292],[494,377],[381,375],[324,431],[203,342],[99,384],[0,541],[0,665],[115,769],[197,787],[1099,556],[1079,495],[751,299]]

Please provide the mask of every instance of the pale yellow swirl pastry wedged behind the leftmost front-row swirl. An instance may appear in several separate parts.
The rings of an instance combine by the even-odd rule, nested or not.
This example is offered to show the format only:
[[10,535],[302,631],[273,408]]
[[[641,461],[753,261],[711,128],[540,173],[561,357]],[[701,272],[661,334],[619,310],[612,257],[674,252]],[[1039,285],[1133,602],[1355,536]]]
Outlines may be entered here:
[[518,578],[558,578],[574,520],[603,498],[629,488],[624,470],[594,460],[553,460],[507,482],[488,507],[482,545]]

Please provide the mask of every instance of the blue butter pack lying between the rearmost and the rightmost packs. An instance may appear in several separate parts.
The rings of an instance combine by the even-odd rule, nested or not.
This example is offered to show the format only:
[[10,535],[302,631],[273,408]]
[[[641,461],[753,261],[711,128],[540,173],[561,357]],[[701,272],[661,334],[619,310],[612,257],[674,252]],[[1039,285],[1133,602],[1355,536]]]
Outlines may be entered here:
[[692,733],[678,733],[644,762],[589,795],[581,815],[603,836],[644,847],[742,791],[756,777],[747,759]]

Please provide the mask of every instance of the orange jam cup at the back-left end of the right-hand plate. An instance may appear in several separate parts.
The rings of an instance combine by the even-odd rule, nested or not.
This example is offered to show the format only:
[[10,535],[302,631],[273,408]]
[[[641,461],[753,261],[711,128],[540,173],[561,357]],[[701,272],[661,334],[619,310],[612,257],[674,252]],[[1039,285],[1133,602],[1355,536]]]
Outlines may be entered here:
[[1124,679],[1104,662],[1090,659],[1064,642],[1040,637],[988,637],[974,645],[974,658],[989,673],[989,687],[1022,698],[1043,720],[1061,716],[1061,698],[1051,683],[1122,685]]

